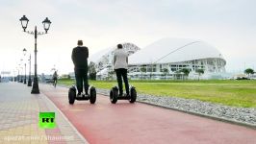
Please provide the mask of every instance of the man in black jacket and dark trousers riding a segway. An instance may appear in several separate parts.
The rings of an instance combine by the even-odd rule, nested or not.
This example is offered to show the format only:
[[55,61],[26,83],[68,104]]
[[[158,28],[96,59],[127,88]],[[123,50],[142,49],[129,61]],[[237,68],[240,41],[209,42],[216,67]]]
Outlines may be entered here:
[[73,48],[72,51],[72,60],[74,63],[74,71],[76,78],[76,86],[78,90],[78,95],[81,95],[83,92],[83,84],[85,87],[86,95],[88,95],[88,57],[89,50],[88,47],[83,46],[83,41],[78,40],[77,47]]

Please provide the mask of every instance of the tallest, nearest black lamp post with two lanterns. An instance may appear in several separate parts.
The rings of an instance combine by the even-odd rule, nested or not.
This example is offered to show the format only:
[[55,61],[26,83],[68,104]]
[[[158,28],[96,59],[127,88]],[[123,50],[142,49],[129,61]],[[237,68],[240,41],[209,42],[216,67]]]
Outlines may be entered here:
[[33,31],[32,32],[26,31],[27,26],[28,26],[28,22],[29,22],[29,19],[26,17],[26,15],[23,15],[19,20],[21,22],[21,26],[22,26],[24,32],[27,32],[28,34],[35,36],[35,75],[34,75],[34,82],[33,82],[33,87],[32,87],[31,93],[38,94],[40,92],[39,92],[39,87],[38,87],[38,71],[37,71],[38,70],[38,65],[37,65],[37,53],[38,53],[37,38],[38,38],[39,35],[47,34],[47,32],[50,28],[50,25],[51,25],[51,21],[48,19],[48,17],[46,17],[42,21],[43,28],[45,30],[45,33],[43,33],[43,32],[38,32],[37,26],[35,26],[35,31],[34,32]]

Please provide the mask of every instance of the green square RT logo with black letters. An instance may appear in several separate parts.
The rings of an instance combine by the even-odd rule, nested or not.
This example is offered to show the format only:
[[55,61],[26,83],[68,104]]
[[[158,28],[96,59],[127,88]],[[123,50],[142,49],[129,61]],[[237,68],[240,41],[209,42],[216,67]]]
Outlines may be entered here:
[[39,128],[42,129],[54,129],[55,124],[55,112],[39,112]]

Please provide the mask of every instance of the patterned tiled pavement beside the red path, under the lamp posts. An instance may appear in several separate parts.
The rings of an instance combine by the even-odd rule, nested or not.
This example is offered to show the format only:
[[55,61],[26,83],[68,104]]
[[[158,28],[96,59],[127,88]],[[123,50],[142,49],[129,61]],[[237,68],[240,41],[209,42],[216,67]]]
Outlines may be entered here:
[[[0,83],[1,144],[87,143],[48,98],[30,92],[25,84]],[[39,111],[55,112],[57,127],[40,129]]]

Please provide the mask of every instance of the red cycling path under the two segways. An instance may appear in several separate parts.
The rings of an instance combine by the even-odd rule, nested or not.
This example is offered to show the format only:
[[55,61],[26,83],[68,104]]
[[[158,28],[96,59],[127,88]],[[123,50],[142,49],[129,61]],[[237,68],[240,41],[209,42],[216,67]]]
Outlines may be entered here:
[[90,143],[256,143],[256,130],[180,111],[128,101],[114,105],[99,94],[95,105],[69,105],[67,88],[40,84],[40,92]]

